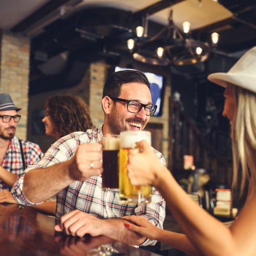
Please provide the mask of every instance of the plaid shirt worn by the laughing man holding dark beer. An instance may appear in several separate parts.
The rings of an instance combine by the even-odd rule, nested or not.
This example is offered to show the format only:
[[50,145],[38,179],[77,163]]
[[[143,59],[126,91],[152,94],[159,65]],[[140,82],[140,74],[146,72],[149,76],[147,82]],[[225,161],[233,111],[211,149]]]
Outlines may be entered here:
[[[56,141],[44,157],[33,166],[29,166],[13,186],[12,194],[20,204],[32,205],[23,194],[23,180],[26,172],[33,168],[47,167],[72,158],[78,145],[82,143],[98,143],[102,139],[102,125],[99,129],[87,132],[75,132]],[[163,165],[163,155],[155,150]],[[86,181],[75,181],[57,194],[56,218],[60,218],[75,209],[87,212],[99,218],[120,218],[127,215],[140,215],[159,228],[163,228],[165,218],[165,201],[153,188],[152,202],[148,204],[119,203],[119,193],[102,190],[102,178],[93,176]],[[143,245],[155,244],[156,241],[146,240]]]

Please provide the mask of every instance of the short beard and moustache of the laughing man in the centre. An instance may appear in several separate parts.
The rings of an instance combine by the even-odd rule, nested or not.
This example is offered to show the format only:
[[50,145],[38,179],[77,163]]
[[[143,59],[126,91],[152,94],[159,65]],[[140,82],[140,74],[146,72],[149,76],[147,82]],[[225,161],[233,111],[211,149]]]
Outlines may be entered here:
[[111,134],[120,134],[120,132],[127,131],[128,122],[141,123],[143,127],[142,130],[144,129],[145,122],[143,122],[141,119],[136,117],[134,118],[131,117],[124,120],[122,116],[117,114],[116,108],[114,107],[109,118],[109,127],[111,130]]

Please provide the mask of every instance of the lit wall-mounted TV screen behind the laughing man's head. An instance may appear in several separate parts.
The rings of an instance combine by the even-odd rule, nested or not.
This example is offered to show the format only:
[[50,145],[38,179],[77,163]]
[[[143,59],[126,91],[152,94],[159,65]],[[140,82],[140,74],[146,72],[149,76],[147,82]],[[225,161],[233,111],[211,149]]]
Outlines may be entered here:
[[[115,67],[116,71],[127,70],[126,68]],[[130,69],[132,70],[132,69]],[[151,83],[151,96],[152,103],[157,105],[157,110],[154,116],[161,116],[163,109],[163,97],[164,97],[164,77],[150,72],[143,72]]]

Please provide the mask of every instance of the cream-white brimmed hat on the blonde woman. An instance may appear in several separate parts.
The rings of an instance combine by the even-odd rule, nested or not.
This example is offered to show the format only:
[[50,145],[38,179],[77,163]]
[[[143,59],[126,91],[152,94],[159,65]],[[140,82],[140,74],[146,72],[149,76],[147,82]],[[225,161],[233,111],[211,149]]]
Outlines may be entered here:
[[207,78],[219,86],[232,83],[256,93],[256,47],[247,51],[227,73],[213,73]]

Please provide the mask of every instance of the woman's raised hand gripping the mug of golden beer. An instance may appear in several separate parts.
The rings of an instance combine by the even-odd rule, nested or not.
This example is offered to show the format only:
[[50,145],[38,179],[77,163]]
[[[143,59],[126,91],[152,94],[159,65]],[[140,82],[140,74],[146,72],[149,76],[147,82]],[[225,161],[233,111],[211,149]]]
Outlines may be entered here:
[[158,173],[164,168],[150,145],[145,140],[137,142],[139,149],[129,151],[128,176],[133,185],[153,185],[158,183]]

